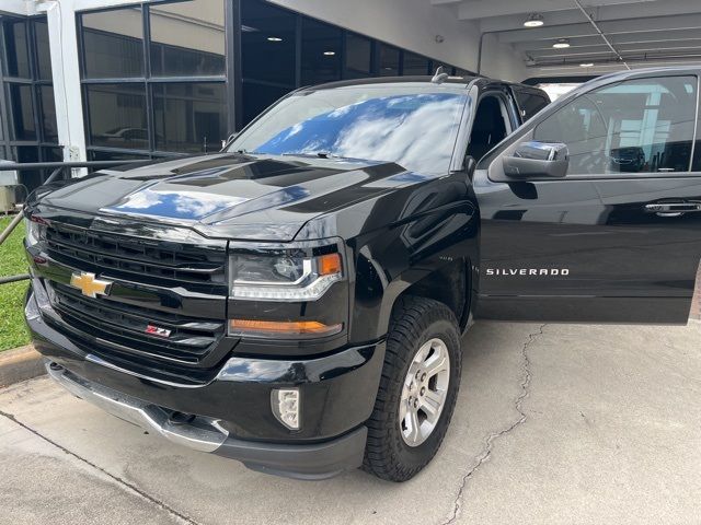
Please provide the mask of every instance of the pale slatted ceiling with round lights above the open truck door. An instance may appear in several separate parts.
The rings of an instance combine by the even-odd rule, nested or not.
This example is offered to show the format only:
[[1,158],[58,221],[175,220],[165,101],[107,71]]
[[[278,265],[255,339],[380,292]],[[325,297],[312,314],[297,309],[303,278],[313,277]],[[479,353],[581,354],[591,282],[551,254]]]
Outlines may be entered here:
[[[426,1],[451,9],[472,27],[479,24],[482,33],[495,34],[521,57],[532,77],[701,62],[701,0]],[[544,24],[526,28],[530,13],[542,15]],[[559,38],[567,38],[571,47],[553,48]]]

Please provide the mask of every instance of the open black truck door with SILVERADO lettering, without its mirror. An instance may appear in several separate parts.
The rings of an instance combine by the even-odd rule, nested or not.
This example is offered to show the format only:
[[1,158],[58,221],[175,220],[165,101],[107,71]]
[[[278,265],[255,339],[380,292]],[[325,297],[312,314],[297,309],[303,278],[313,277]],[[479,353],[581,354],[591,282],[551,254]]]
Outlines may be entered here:
[[[618,79],[555,103],[478,166],[476,316],[687,322],[701,259],[699,74]],[[504,159],[549,144],[568,150],[562,178],[507,175]]]

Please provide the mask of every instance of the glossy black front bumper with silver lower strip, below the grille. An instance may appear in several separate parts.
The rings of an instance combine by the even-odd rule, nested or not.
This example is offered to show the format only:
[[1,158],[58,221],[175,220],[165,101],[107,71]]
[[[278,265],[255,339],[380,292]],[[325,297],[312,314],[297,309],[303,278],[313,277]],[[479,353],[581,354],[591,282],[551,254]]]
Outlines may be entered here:
[[[76,396],[158,433],[246,467],[318,479],[358,467],[375,405],[384,343],[307,360],[232,355],[207,384],[176,384],[115,366],[47,324],[46,305],[30,294],[25,317],[49,375]],[[46,314],[46,312],[44,313]],[[301,429],[273,415],[274,388],[297,387]]]

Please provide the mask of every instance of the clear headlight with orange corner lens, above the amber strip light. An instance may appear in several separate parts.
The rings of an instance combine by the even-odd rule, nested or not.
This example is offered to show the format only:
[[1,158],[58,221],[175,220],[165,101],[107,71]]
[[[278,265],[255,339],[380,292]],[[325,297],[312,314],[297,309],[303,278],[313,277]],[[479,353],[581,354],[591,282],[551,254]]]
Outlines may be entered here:
[[231,298],[239,300],[317,301],[343,279],[338,253],[234,254],[230,265]]

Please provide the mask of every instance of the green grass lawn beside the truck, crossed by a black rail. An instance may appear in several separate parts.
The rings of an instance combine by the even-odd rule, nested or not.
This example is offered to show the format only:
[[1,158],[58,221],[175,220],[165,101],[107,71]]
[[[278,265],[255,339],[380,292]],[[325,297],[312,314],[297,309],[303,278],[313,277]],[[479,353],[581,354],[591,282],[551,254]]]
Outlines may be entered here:
[[[12,218],[0,218],[0,231],[4,230]],[[14,229],[10,238],[0,246],[0,276],[26,273],[26,259],[22,240],[24,225]],[[24,328],[23,303],[27,281],[0,284],[0,351],[21,347],[30,342]]]

